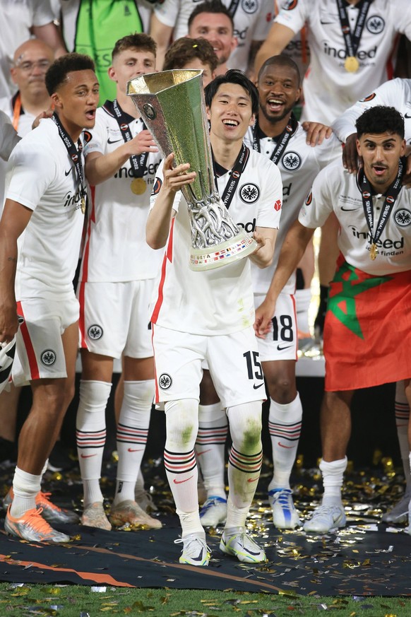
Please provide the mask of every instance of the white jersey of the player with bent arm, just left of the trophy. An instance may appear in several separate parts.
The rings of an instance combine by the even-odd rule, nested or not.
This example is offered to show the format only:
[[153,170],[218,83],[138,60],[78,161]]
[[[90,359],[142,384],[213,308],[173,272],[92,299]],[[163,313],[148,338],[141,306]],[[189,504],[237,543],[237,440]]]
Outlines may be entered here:
[[[143,121],[131,116],[128,119],[134,137],[143,129]],[[97,109],[95,127],[90,134],[92,139],[84,151],[86,157],[90,152],[113,152],[124,143],[117,119],[105,107]],[[145,242],[145,223],[159,163],[160,153],[149,153],[143,194],[132,191],[130,160],[112,178],[93,189],[81,281],[117,283],[157,276],[162,251],[154,251]]]

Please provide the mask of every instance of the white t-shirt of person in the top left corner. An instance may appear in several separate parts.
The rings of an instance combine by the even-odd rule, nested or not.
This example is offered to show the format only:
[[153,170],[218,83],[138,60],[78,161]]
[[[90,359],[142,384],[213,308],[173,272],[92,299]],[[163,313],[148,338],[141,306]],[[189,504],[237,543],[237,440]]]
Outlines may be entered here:
[[11,97],[17,90],[10,75],[17,47],[31,38],[33,25],[46,25],[53,19],[49,0],[1,0],[0,97]]

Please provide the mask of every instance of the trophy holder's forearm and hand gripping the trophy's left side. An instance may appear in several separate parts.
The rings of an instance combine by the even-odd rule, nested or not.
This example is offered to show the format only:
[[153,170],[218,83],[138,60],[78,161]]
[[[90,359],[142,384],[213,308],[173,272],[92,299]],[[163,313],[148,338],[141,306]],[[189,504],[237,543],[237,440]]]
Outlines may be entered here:
[[173,216],[173,203],[177,191],[186,184],[194,182],[196,172],[189,172],[190,164],[183,163],[172,167],[174,153],[167,156],[163,167],[163,182],[155,198],[145,226],[145,240],[152,249],[165,247],[169,234],[169,224]]

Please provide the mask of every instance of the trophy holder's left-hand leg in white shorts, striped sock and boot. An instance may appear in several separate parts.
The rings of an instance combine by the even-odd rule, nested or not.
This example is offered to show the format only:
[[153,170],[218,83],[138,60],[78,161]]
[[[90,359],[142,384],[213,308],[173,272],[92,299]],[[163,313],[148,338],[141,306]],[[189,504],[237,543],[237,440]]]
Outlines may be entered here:
[[155,402],[164,404],[164,464],[181,524],[181,563],[208,565],[210,551],[198,512],[198,469],[194,444],[198,432],[201,363],[206,338],[153,325]]

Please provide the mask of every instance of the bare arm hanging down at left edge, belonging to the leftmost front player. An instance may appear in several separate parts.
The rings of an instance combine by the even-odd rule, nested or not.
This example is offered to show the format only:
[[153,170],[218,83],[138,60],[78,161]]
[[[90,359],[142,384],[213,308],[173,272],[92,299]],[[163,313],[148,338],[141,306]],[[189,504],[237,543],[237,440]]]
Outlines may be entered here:
[[16,279],[17,240],[30,221],[32,210],[6,199],[0,221],[0,343],[8,343],[17,332]]

